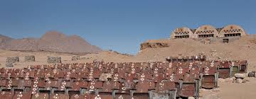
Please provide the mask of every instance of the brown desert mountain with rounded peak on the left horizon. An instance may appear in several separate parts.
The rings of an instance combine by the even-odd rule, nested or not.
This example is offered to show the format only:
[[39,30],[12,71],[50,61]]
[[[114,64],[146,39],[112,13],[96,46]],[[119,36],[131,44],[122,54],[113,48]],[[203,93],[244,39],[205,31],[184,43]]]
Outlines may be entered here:
[[63,33],[50,31],[41,38],[13,39],[0,35],[0,49],[18,51],[50,51],[70,53],[96,53],[102,51],[95,45],[78,35],[67,36]]

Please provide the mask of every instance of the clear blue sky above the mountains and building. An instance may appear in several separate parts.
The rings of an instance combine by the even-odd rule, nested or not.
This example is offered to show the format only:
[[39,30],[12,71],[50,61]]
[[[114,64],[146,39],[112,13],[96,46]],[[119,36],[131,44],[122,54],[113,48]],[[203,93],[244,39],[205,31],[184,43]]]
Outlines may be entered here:
[[139,44],[174,28],[242,26],[256,31],[255,0],[0,0],[0,34],[41,37],[48,30],[79,35],[103,50],[136,54]]

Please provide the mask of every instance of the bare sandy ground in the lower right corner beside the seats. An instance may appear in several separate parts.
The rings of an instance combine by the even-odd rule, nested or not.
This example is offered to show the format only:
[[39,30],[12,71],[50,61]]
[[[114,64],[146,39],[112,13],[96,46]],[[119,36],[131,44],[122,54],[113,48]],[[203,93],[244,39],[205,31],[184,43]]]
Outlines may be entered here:
[[219,82],[218,88],[210,90],[201,89],[200,98],[215,97],[213,99],[255,99],[256,78],[247,78],[247,80],[248,82],[246,83]]

